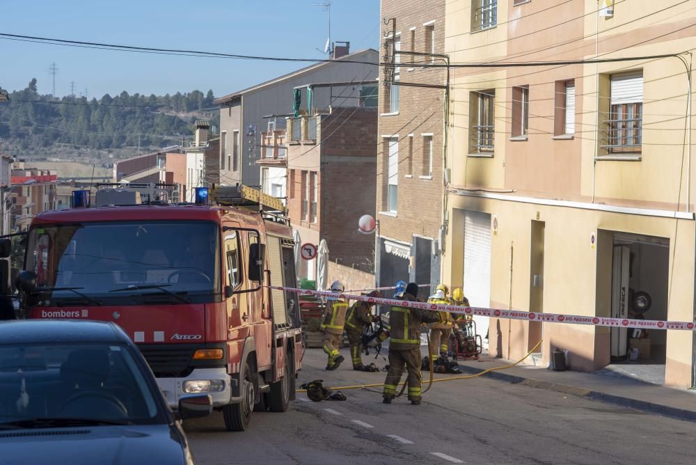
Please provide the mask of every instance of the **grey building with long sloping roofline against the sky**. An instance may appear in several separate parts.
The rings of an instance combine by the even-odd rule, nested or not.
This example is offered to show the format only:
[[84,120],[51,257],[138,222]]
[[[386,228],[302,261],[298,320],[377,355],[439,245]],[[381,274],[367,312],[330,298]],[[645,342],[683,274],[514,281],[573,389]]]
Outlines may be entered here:
[[[356,107],[361,83],[377,79],[378,53],[372,49],[349,53],[349,42],[335,47],[331,61],[316,63],[214,101],[220,105],[221,184],[261,185],[256,161],[261,158],[262,133],[285,129],[284,118],[264,118],[288,113],[295,107],[297,116],[331,107]],[[335,83],[299,95],[298,86],[307,83]],[[340,85],[342,83],[342,85]]]

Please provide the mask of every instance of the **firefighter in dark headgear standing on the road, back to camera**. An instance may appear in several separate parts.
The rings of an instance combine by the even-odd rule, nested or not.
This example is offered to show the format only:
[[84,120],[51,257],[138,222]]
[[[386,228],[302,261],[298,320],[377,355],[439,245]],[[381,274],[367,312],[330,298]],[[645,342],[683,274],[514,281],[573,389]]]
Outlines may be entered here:
[[[418,285],[409,283],[406,292],[400,297],[405,301],[418,299]],[[397,386],[401,380],[404,365],[409,372],[409,400],[411,404],[420,404],[420,325],[441,321],[441,315],[431,310],[393,306],[389,312],[390,342],[389,371],[384,380],[383,402],[390,404],[396,396]]]

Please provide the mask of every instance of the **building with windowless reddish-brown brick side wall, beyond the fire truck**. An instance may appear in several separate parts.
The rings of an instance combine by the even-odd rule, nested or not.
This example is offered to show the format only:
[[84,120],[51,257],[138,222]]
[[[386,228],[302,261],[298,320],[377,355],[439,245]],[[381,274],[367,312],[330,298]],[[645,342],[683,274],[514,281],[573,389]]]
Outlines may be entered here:
[[[333,262],[329,282],[345,281],[350,270],[372,273],[374,237],[358,232],[358,219],[374,216],[377,108],[342,107],[288,118],[286,138],[287,214],[293,228],[303,243],[326,240]],[[271,187],[274,182],[269,179]],[[300,277],[314,280],[316,262],[303,260]]]

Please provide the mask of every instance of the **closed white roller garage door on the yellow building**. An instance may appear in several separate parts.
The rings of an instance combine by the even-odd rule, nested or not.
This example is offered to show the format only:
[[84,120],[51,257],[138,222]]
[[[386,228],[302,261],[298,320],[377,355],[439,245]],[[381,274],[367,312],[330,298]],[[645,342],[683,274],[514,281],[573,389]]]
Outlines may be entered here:
[[[464,212],[464,295],[475,307],[491,305],[491,215]],[[488,347],[489,318],[474,316],[477,332]]]

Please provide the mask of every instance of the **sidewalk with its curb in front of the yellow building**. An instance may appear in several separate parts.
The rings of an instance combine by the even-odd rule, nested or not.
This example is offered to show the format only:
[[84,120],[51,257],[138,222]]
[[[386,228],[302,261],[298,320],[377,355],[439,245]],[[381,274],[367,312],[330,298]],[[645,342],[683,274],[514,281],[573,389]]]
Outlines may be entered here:
[[[459,361],[459,368],[463,373],[475,374],[512,363],[485,356],[481,361]],[[529,365],[518,365],[483,376],[696,422],[696,391],[658,386],[628,377],[555,372]]]

